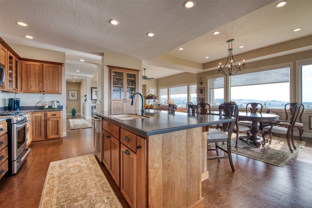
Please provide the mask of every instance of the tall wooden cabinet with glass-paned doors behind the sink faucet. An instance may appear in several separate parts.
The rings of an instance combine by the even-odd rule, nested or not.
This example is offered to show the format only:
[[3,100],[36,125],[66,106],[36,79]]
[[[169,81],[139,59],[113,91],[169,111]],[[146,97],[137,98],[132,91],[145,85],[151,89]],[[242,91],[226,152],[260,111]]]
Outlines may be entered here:
[[110,71],[110,109],[112,111],[136,110],[131,106],[133,95],[138,89],[139,70],[108,66]]

